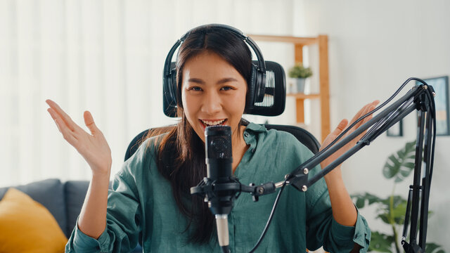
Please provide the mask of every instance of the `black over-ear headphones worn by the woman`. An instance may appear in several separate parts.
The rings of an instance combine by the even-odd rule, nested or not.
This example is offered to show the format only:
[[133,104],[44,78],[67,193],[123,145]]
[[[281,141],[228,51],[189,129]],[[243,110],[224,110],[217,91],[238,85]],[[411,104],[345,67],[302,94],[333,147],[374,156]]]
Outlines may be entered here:
[[226,30],[235,34],[238,38],[245,41],[246,44],[252,48],[257,56],[257,64],[252,61],[252,70],[250,74],[250,83],[248,84],[247,98],[245,101],[245,112],[251,112],[255,107],[255,103],[260,103],[264,100],[265,86],[266,86],[266,63],[262,57],[262,53],[259,50],[255,41],[250,37],[247,37],[240,30],[231,27],[229,25],[221,24],[210,24],[210,25],[200,25],[195,27],[181,37],[174,46],[170,49],[167,54],[164,70],[162,74],[162,95],[163,95],[163,110],[165,115],[169,117],[176,117],[176,63],[172,62],[172,58],[177,48],[183,43],[187,37],[193,32],[202,31],[204,29],[208,30]]

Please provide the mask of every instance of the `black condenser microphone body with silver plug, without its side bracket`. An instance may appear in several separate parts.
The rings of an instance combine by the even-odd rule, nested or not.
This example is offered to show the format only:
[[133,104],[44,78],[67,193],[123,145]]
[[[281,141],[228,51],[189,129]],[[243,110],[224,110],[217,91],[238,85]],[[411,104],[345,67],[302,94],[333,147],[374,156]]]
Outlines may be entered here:
[[228,215],[233,208],[235,191],[221,186],[234,182],[230,126],[207,126],[205,153],[207,178],[212,181],[212,192],[207,194],[208,207],[216,217],[219,245],[223,252],[229,252]]

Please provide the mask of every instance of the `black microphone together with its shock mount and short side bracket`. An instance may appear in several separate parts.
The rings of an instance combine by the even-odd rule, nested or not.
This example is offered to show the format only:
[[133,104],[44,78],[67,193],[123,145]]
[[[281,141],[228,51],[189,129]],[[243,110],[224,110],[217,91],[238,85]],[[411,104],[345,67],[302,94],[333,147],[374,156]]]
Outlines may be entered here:
[[216,218],[219,245],[222,252],[229,253],[228,215],[233,209],[233,200],[241,192],[245,192],[250,193],[253,201],[257,202],[259,196],[275,193],[276,188],[284,186],[285,182],[269,182],[260,186],[250,183],[250,186],[245,186],[233,176],[230,126],[206,127],[205,158],[207,177],[203,178],[197,186],[191,187],[191,194],[205,197],[205,202],[208,202],[208,207]]

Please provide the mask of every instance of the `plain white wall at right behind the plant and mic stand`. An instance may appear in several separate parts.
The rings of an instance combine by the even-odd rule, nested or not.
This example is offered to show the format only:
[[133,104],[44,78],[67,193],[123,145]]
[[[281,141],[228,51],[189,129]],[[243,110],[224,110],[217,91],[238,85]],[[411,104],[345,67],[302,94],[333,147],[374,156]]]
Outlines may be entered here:
[[[450,74],[450,1],[321,1],[297,2],[295,16],[304,23],[295,35],[328,34],[330,59],[330,110],[332,127],[351,118],[372,100],[384,101],[408,77],[439,77]],[[412,84],[411,84],[412,85]],[[409,86],[411,87],[411,86]],[[368,191],[385,197],[392,181],[381,171],[388,155],[416,138],[416,117],[404,121],[404,137],[380,136],[343,165],[350,193]],[[438,136],[435,172],[430,195],[428,241],[450,250],[448,234],[450,138]],[[405,195],[412,177],[395,193]],[[380,225],[371,212],[364,213],[373,230]]]

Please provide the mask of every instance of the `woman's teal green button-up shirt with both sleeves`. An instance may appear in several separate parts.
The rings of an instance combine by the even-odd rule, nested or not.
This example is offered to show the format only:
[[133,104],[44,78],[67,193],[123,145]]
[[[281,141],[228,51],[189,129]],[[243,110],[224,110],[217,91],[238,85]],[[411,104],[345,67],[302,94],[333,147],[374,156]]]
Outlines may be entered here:
[[[250,145],[235,176],[240,183],[283,181],[311,151],[284,131],[269,130],[250,123],[243,132]],[[66,252],[129,252],[139,241],[144,252],[221,252],[217,240],[207,245],[186,242],[186,218],[179,212],[169,182],[155,163],[155,146],[146,140],[124,163],[108,195],[107,227],[98,240],[76,227]],[[320,167],[310,170],[314,176]],[[242,193],[229,214],[231,252],[249,252],[261,235],[276,193],[253,202]],[[215,229],[215,228],[214,228]],[[323,245],[329,252],[350,252],[354,242],[366,252],[371,238],[366,219],[360,216],[354,227],[333,219],[328,189],[323,179],[302,193],[287,186],[276,213],[257,252],[306,252]]]

